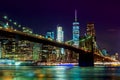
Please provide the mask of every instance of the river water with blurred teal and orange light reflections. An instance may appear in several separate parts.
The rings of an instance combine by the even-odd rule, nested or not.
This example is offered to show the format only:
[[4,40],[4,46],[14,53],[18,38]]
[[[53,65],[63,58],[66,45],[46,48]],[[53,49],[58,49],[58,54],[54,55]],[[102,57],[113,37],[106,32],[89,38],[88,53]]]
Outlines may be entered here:
[[120,80],[120,67],[0,66],[0,80]]

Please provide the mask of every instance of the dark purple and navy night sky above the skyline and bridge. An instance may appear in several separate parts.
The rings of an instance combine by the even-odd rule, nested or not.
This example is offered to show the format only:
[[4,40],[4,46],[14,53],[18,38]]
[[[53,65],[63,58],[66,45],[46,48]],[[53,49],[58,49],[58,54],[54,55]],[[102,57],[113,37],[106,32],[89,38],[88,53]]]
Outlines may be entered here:
[[80,33],[84,35],[86,25],[94,22],[97,44],[109,54],[120,53],[120,1],[119,0],[1,0],[0,14],[45,35],[56,32],[58,24],[63,26],[65,40],[72,39],[74,10],[78,11]]

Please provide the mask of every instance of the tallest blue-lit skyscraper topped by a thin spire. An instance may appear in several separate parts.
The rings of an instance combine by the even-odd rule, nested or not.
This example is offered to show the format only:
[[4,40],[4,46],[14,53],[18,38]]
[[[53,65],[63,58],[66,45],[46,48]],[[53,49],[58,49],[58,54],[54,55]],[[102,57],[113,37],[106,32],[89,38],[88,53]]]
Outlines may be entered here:
[[73,22],[73,46],[79,47],[79,22],[77,21],[77,10],[75,10],[75,21]]

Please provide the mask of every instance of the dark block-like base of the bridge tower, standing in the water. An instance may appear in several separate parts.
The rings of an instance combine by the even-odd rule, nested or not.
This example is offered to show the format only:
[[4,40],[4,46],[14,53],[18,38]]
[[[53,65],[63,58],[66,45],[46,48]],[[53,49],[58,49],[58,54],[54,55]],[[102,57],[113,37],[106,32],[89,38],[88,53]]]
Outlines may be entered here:
[[79,66],[92,67],[94,66],[94,56],[92,52],[79,53]]

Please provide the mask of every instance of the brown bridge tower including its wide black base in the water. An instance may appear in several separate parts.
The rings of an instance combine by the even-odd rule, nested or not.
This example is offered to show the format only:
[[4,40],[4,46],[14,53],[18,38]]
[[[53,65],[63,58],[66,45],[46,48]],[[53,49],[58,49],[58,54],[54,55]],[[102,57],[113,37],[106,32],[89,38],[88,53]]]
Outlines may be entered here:
[[87,37],[90,38],[85,44],[90,52],[79,53],[79,66],[94,66],[94,45],[96,41],[93,23],[87,24]]

